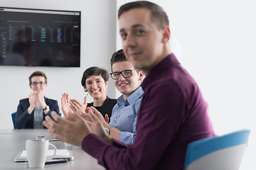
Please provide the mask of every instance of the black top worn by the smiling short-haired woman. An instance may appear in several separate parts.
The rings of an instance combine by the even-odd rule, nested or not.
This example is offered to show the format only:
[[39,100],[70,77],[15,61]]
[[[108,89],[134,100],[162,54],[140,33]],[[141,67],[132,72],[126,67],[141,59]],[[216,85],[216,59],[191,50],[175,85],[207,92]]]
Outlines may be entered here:
[[97,111],[102,113],[104,118],[105,118],[106,114],[110,118],[111,115],[112,115],[112,108],[114,107],[114,105],[116,103],[117,103],[116,99],[112,99],[112,98],[107,97],[102,106],[95,107],[95,106],[93,106],[93,102],[92,102],[92,103],[87,103],[87,107],[93,106],[93,107],[95,107],[97,109]]

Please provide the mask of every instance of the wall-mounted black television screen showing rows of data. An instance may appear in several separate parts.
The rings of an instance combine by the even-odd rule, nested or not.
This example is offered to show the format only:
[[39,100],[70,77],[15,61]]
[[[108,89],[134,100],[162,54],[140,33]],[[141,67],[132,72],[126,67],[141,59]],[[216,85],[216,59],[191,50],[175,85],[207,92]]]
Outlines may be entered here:
[[0,65],[80,67],[80,16],[0,6]]

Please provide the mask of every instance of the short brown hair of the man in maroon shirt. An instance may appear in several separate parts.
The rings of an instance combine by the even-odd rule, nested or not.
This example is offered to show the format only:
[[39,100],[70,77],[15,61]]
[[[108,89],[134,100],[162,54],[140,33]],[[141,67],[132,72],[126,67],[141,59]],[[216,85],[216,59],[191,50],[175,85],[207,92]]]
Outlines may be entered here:
[[151,19],[156,23],[156,26],[161,29],[164,26],[169,26],[169,19],[161,6],[156,5],[149,1],[133,1],[122,5],[118,10],[118,18],[122,16],[122,13],[129,11],[133,8],[147,8],[151,11]]

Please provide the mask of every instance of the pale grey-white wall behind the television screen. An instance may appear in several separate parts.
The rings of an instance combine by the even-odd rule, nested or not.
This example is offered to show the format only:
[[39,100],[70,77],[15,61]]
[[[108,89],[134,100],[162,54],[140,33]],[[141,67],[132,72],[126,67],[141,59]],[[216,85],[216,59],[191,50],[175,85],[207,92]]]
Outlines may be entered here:
[[[0,66],[0,129],[13,128],[11,113],[16,111],[21,98],[28,97],[31,91],[28,86],[28,77],[32,72],[41,70],[46,73],[48,88],[45,95],[58,100],[61,107],[60,98],[64,92],[68,92],[72,98],[83,101],[85,92],[80,81],[85,69],[98,66],[110,71],[110,57],[116,49],[116,1],[1,0],[1,6],[82,11],[82,38],[80,68]],[[111,78],[107,95],[115,98],[115,88]],[[88,101],[92,101],[92,98]]]

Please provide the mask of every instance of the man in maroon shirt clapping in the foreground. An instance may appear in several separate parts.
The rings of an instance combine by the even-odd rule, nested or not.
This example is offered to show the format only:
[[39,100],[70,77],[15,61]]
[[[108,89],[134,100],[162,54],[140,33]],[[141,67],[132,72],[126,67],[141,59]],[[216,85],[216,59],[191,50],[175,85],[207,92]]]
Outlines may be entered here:
[[87,109],[87,123],[78,115],[53,115],[58,123],[47,118],[44,125],[53,137],[82,146],[106,169],[181,170],[188,143],[214,135],[207,104],[170,50],[169,21],[160,6],[131,2],[119,8],[118,18],[124,54],[146,75],[134,143],[108,136],[98,126],[95,108]]

